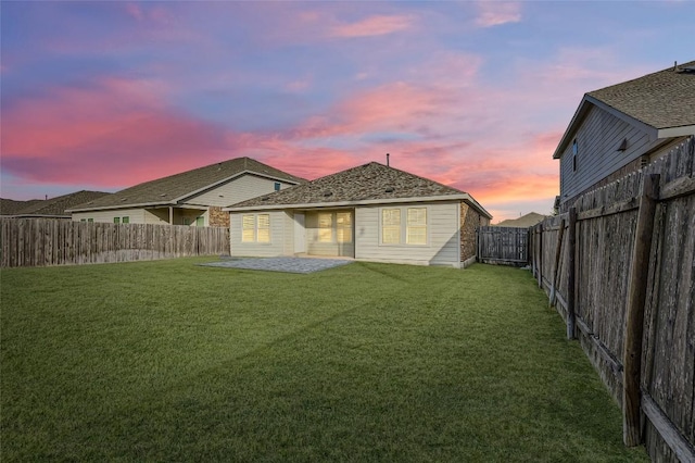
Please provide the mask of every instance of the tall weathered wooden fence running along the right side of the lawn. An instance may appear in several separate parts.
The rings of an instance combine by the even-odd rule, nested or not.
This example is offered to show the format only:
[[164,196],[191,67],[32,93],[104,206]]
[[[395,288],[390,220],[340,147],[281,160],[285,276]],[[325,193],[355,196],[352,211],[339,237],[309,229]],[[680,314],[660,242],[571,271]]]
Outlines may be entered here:
[[695,461],[695,138],[531,229],[531,267],[621,404],[623,440]]

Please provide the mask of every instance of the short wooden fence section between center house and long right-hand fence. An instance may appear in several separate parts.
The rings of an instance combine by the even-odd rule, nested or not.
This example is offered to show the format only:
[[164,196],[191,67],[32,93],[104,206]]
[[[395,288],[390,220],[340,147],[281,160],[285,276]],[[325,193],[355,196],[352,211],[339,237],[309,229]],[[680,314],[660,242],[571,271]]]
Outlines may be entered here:
[[517,227],[479,227],[478,262],[526,265],[529,261],[529,229]]

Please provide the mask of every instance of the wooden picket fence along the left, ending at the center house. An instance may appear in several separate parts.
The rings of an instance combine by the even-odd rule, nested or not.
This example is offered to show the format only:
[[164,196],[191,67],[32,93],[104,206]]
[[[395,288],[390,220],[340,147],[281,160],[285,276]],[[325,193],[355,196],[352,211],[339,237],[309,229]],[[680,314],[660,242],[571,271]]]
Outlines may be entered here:
[[229,229],[0,218],[0,266],[43,266],[229,254]]

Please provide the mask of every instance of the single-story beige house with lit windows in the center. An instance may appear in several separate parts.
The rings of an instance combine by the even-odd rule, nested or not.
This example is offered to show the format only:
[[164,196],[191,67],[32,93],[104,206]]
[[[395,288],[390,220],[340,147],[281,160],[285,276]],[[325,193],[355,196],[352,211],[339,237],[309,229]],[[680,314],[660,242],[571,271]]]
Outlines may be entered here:
[[470,195],[377,162],[229,208],[231,254],[420,265],[475,261],[492,216]]

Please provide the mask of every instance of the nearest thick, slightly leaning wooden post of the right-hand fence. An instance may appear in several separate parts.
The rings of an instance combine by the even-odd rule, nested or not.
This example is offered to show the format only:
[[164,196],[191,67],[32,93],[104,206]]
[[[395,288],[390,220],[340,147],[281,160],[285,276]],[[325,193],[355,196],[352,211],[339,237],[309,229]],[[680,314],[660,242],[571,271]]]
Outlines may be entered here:
[[623,349],[622,440],[627,447],[642,441],[640,428],[640,370],[642,366],[642,331],[644,305],[649,275],[649,252],[654,233],[654,215],[659,197],[659,175],[645,175],[642,180],[637,227],[632,248],[630,283],[626,310],[626,340]]

